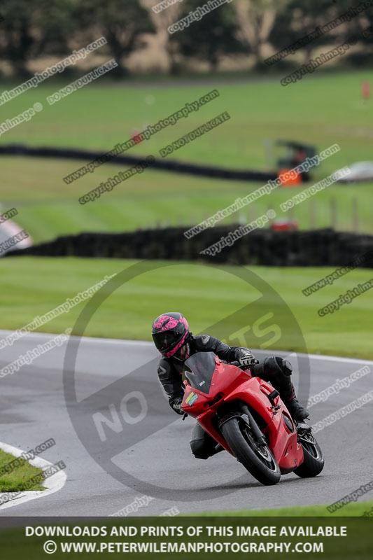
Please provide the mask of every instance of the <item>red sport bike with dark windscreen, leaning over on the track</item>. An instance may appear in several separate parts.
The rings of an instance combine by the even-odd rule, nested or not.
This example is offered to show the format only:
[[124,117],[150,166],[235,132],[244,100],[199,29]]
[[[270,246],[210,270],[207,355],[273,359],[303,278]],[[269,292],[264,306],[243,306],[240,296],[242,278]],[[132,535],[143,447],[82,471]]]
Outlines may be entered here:
[[294,423],[276,389],[238,362],[198,352],[184,363],[181,409],[262,484],[295,472],[315,477],[324,466],[310,426]]

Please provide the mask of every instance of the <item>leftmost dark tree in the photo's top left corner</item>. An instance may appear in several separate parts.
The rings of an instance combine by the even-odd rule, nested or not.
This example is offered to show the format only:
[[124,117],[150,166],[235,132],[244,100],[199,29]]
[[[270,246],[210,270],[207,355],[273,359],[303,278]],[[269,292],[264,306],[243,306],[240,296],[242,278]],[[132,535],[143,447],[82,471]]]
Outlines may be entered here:
[[2,0],[0,55],[13,71],[27,75],[27,62],[47,50],[67,50],[76,28],[72,0]]

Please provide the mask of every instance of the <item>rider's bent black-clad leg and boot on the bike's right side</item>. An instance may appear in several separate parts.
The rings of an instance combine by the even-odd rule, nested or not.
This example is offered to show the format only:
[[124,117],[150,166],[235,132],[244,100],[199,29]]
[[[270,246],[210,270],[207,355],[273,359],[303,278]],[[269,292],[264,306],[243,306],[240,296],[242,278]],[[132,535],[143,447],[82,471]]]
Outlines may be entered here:
[[293,367],[290,362],[283,360],[279,356],[265,358],[265,360],[261,360],[251,370],[255,377],[271,381],[274,388],[279,391],[281,399],[294,420],[304,420],[309,415],[309,412],[302,407],[295,396],[294,386],[290,377],[292,371]]

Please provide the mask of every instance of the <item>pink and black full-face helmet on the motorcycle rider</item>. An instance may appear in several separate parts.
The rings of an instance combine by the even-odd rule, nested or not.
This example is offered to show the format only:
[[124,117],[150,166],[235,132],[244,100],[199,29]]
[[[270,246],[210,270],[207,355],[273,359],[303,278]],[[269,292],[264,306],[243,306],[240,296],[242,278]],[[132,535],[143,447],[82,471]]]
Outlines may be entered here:
[[153,323],[152,336],[155,347],[167,358],[174,356],[189,334],[188,321],[181,313],[164,313]]

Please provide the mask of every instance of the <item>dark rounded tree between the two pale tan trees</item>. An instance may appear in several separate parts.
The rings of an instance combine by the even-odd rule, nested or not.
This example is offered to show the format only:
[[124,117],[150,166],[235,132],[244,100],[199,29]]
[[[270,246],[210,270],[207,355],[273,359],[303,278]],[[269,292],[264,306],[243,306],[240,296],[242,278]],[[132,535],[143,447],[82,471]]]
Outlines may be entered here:
[[[184,0],[179,19],[185,18],[204,6],[201,0]],[[184,56],[197,57],[209,62],[216,71],[223,55],[244,52],[244,45],[237,38],[239,25],[234,8],[230,4],[206,13],[199,21],[190,22],[189,27],[171,34],[171,44],[177,45]]]

